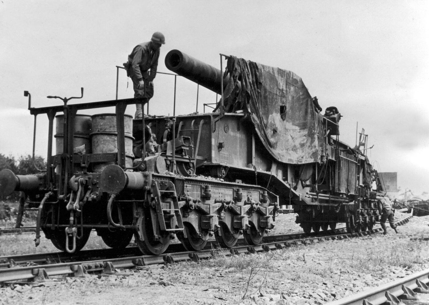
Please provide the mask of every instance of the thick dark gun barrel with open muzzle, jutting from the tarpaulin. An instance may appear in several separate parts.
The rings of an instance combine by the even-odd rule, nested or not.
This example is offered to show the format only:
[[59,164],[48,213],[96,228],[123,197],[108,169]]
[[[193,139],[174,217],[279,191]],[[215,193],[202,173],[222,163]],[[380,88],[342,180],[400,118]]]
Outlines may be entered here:
[[[165,56],[165,66],[172,72],[215,93],[221,94],[221,70],[184,54],[179,50],[171,50],[167,53]],[[225,78],[224,87],[228,79],[229,78]]]

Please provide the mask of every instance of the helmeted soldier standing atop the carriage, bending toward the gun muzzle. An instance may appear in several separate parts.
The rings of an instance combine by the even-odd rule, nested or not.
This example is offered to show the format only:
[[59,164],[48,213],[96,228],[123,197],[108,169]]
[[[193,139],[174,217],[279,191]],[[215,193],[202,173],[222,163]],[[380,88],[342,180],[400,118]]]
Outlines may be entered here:
[[143,98],[141,102],[136,103],[135,119],[142,118],[142,104],[149,102],[154,96],[153,81],[157,75],[160,47],[163,44],[165,44],[164,35],[155,32],[151,41],[136,45],[128,55],[127,63],[124,63],[127,76],[133,81],[134,98]]

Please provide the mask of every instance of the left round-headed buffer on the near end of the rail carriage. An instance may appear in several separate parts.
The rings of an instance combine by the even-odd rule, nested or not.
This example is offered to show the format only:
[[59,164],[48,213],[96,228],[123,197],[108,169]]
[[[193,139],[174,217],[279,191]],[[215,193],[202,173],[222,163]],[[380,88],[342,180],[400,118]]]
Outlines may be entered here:
[[0,195],[9,196],[13,191],[37,191],[42,181],[37,175],[15,175],[12,170],[0,171]]

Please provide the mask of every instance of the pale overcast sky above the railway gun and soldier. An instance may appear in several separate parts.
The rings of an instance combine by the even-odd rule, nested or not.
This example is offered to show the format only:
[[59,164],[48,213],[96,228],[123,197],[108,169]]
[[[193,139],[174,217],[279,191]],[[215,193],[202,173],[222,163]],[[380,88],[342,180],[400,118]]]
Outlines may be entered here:
[[[159,72],[169,72],[172,49],[219,69],[223,53],[295,72],[323,109],[343,115],[341,141],[355,145],[358,122],[374,144],[370,160],[421,194],[429,191],[428,16],[429,1],[1,0],[0,153],[31,154],[24,90],[33,107],[62,105],[46,96],[80,96],[80,87],[76,102],[115,99],[115,66],[160,31]],[[172,114],[174,77],[154,84],[149,112]],[[118,91],[133,97],[123,70]],[[199,93],[202,112],[216,95]],[[196,85],[178,79],[176,102],[176,114],[194,112]],[[36,154],[45,157],[47,117],[37,123]]]

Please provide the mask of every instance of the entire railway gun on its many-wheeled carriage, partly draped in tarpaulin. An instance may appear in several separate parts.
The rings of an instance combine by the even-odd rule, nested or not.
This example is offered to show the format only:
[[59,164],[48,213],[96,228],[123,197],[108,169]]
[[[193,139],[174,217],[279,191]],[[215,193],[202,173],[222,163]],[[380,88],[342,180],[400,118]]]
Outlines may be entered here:
[[[364,153],[367,136],[355,148],[339,141],[341,114],[329,107],[322,115],[298,76],[232,56],[222,74],[178,50],[165,63],[221,94],[215,111],[133,120],[125,110],[139,99],[32,108],[25,93],[30,113],[48,117],[47,170],[1,170],[0,192],[23,191],[38,206],[36,246],[41,230],[73,253],[92,229],[109,247],[134,236],[154,255],[175,236],[188,251],[211,236],[222,247],[241,237],[258,245],[288,208],[306,233],[338,223],[372,229],[385,191]],[[112,106],[115,113],[81,113]]]

